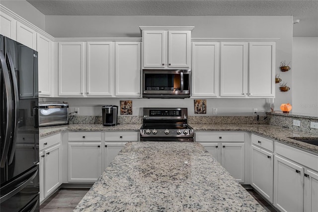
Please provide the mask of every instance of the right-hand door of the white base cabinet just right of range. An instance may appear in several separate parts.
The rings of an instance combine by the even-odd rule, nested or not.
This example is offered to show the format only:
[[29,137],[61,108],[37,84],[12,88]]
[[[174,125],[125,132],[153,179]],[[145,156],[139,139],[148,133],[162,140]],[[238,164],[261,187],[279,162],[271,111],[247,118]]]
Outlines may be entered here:
[[221,145],[221,165],[239,183],[244,183],[244,143],[222,143]]

